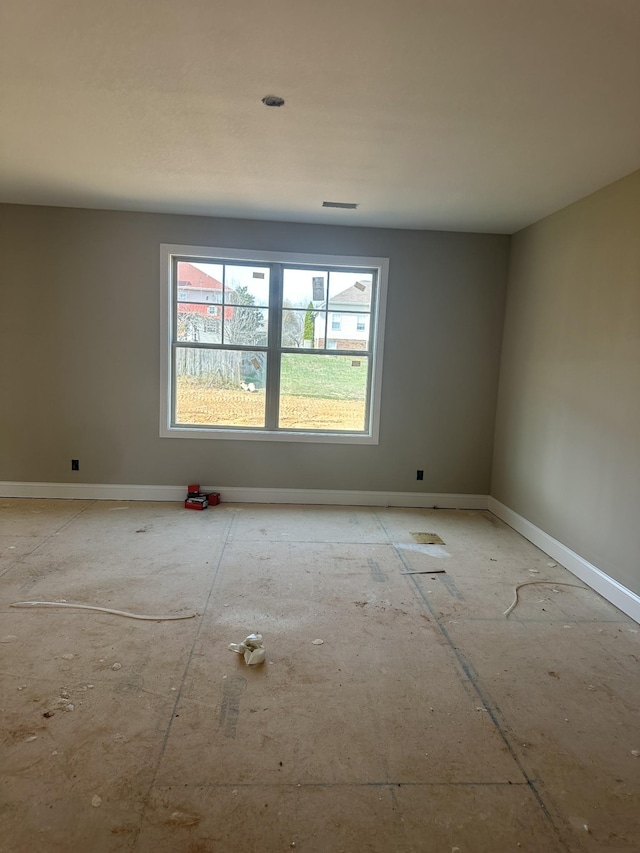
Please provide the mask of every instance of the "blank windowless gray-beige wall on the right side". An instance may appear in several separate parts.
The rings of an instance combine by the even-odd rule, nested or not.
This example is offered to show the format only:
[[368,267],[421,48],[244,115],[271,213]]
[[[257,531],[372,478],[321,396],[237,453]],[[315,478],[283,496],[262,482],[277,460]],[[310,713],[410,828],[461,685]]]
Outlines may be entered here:
[[640,593],[640,172],[512,238],[491,493]]

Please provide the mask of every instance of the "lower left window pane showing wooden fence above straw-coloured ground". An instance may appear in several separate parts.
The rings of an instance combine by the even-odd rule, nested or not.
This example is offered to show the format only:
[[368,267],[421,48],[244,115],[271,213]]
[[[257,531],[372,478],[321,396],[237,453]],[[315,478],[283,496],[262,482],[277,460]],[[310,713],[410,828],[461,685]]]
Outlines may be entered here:
[[266,353],[177,347],[177,424],[264,427]]

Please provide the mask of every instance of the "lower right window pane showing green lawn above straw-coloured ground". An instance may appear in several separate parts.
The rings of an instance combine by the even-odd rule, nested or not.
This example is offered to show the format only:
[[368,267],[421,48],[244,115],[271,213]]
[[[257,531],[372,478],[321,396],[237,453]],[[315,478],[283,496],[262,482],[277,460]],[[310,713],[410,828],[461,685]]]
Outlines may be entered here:
[[367,373],[367,356],[283,353],[278,426],[364,431]]

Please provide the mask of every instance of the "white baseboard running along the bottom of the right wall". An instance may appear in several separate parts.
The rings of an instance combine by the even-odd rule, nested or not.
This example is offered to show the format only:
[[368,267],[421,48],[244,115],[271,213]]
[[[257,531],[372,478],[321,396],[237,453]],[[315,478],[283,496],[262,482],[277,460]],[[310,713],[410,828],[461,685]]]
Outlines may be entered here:
[[522,534],[525,539],[532,542],[545,554],[548,554],[554,560],[557,560],[562,566],[568,569],[576,577],[584,581],[591,589],[599,593],[611,604],[614,604],[627,616],[630,616],[636,622],[640,623],[640,596],[636,595],[626,586],[618,583],[617,580],[605,574],[597,566],[589,563],[571,548],[567,548],[562,542],[554,539],[544,530],[536,527],[530,521],[527,521],[523,516],[518,515],[508,506],[500,503],[495,498],[490,497],[488,501],[489,510],[502,519],[509,527],[513,527],[518,533]]

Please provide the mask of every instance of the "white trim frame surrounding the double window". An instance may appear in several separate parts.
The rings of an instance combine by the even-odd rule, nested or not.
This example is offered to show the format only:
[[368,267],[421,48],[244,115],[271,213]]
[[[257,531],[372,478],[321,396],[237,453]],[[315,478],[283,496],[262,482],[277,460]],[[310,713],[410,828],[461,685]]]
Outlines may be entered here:
[[[366,267],[377,270],[377,299],[371,306],[371,378],[367,432],[332,432],[303,430],[268,430],[233,426],[184,426],[172,423],[172,326],[174,257],[206,261],[253,261],[256,263],[303,264],[319,267]],[[387,303],[388,258],[316,255],[293,252],[261,252],[250,249],[228,249],[212,246],[185,246],[163,243],[160,246],[160,437],[201,438],[251,441],[301,441],[332,444],[378,444],[382,393],[382,357]],[[177,286],[177,283],[176,283]],[[270,306],[270,310],[273,310]]]

